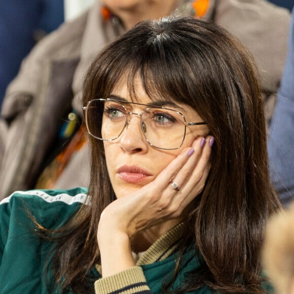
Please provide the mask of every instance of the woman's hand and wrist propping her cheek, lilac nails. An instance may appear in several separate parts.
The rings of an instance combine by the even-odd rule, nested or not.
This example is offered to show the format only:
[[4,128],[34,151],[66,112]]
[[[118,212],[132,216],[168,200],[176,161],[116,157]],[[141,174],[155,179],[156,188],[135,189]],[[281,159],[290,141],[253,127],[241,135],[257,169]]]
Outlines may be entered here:
[[[205,186],[211,167],[210,142],[213,142],[211,136],[206,137],[205,142],[203,137],[195,139],[192,147],[183,149],[154,181],[104,209],[97,235],[103,276],[134,265],[130,240],[136,233],[185,217],[183,210]],[[179,191],[171,187],[172,181],[177,183]],[[115,268],[109,259],[114,260]]]

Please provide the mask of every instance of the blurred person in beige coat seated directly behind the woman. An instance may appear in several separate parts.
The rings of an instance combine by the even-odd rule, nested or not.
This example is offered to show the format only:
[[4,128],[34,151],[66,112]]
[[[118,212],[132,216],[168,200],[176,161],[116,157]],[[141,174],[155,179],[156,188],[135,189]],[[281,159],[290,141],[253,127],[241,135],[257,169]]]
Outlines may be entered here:
[[82,81],[94,56],[144,19],[170,14],[224,26],[258,64],[269,120],[284,66],[289,12],[266,0],[101,0],[36,46],[9,85],[2,108],[0,198],[16,190],[87,187]]

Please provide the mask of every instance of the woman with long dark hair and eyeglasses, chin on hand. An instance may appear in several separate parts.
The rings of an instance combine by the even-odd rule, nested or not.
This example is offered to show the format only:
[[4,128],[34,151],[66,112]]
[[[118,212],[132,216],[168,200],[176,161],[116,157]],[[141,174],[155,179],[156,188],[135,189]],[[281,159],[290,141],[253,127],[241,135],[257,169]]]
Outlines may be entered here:
[[2,202],[4,293],[265,292],[280,204],[247,50],[210,22],[145,21],[99,54],[84,93],[89,191]]

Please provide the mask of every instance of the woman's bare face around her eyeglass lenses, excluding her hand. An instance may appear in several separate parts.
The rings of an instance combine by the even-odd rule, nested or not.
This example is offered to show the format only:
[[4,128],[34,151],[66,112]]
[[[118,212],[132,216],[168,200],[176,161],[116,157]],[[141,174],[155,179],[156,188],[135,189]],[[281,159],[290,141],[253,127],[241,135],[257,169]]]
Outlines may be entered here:
[[[151,103],[152,100],[143,90],[141,82],[137,81],[135,84],[137,102]],[[111,96],[131,101],[127,83],[123,80],[114,87]],[[160,100],[164,101],[164,99]],[[137,114],[141,114],[146,108],[136,104],[130,104],[130,107],[131,109],[127,110]],[[182,113],[187,122],[203,122],[197,112],[187,105],[170,107],[167,104],[167,107]],[[105,127],[104,121],[102,135],[103,126]],[[133,193],[153,181],[183,148],[191,146],[196,137],[207,136],[208,132],[206,125],[187,126],[185,140],[179,149],[162,150],[146,141],[140,126],[140,117],[131,115],[129,124],[116,140],[103,141],[107,170],[117,198]]]

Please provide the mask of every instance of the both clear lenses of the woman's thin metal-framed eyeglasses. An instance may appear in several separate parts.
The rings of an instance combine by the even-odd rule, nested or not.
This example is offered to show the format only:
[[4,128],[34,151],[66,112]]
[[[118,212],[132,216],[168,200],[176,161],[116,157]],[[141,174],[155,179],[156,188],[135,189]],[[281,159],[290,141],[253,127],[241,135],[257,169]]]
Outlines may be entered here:
[[[132,119],[132,103],[123,105],[116,101],[92,100],[87,107],[87,126],[91,135],[102,140],[114,140],[120,136]],[[137,111],[141,109],[141,112]],[[141,129],[146,140],[161,149],[177,149],[185,137],[185,119],[172,110],[164,108],[136,107],[141,115]],[[99,128],[102,120],[102,128]]]

